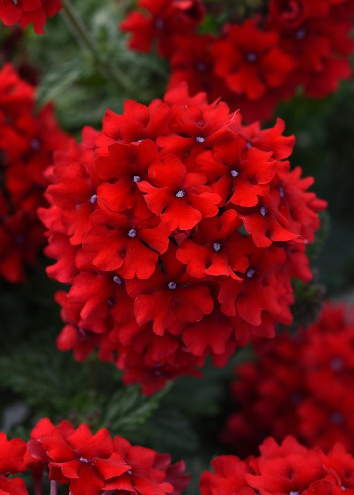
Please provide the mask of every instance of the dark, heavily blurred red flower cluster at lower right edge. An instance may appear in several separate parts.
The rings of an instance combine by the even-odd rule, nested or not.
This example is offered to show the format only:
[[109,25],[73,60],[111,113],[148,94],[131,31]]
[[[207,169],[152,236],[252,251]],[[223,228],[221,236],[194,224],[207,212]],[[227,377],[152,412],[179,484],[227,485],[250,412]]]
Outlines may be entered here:
[[240,453],[260,438],[292,434],[308,446],[354,447],[354,321],[344,307],[328,306],[318,323],[256,346],[259,361],[238,366],[232,395],[241,411],[223,439]]

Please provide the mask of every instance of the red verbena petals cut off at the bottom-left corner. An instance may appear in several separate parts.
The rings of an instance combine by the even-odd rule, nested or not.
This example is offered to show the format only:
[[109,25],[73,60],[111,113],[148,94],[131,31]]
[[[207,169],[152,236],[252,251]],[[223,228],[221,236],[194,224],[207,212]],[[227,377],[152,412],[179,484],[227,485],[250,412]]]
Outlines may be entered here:
[[8,440],[0,432],[0,493],[9,495],[28,495],[25,482],[20,478],[9,478],[9,474],[24,471],[26,444],[19,438]]

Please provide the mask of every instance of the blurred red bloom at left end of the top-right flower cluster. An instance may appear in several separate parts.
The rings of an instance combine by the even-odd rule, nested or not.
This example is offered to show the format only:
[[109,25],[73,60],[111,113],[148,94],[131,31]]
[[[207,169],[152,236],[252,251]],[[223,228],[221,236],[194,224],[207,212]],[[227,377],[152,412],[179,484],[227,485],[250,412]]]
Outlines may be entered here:
[[121,23],[122,31],[132,33],[129,47],[149,52],[156,39],[161,55],[173,47],[171,35],[192,34],[204,16],[200,0],[139,0],[139,11],[131,12]]

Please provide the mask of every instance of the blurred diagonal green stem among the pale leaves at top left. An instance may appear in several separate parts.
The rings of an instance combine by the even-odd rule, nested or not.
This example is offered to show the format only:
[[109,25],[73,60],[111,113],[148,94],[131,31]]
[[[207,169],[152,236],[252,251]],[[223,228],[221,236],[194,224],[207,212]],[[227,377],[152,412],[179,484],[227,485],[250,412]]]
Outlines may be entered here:
[[110,82],[118,84],[128,95],[135,93],[134,85],[131,83],[129,78],[126,77],[126,75],[118,67],[112,67],[104,59],[104,57],[102,57],[100,48],[97,46],[95,39],[91,36],[82,22],[82,19],[75,11],[71,1],[61,0],[61,3],[65,18],[69,22],[78,43],[92,54],[103,75],[108,78]]

